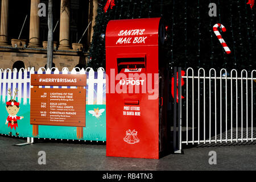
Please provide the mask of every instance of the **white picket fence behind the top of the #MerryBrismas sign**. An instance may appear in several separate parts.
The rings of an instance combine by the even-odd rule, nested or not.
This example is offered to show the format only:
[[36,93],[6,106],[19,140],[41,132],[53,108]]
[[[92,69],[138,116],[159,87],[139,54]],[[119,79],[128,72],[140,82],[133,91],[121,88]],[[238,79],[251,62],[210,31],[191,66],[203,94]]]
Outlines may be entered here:
[[[44,69],[39,68],[38,72],[32,69],[20,69],[17,72],[16,69],[11,71],[11,69],[0,69],[0,93],[2,102],[6,102],[11,99],[10,94],[8,94],[8,89],[11,88],[11,92],[14,96],[15,88],[18,89],[18,95],[13,98],[18,102],[22,102],[23,104],[27,104],[27,98],[30,98],[30,78],[31,74],[86,74],[87,75],[87,95],[88,99],[86,104],[93,105],[102,105],[104,103],[104,96],[106,93],[106,79],[104,77],[104,68],[98,68],[97,72],[94,72],[92,68],[82,68],[79,72],[76,71],[79,68],[73,68],[71,72],[68,71],[68,68],[63,68],[59,71],[57,68]],[[54,71],[53,71],[54,70]],[[52,72],[53,71],[53,72]],[[95,78],[97,77],[97,78]],[[41,86],[42,87],[42,86]],[[43,86],[44,88],[68,88],[68,86]],[[72,86],[70,88],[73,88]],[[29,99],[30,102],[30,99]]]

